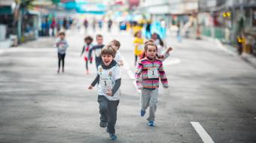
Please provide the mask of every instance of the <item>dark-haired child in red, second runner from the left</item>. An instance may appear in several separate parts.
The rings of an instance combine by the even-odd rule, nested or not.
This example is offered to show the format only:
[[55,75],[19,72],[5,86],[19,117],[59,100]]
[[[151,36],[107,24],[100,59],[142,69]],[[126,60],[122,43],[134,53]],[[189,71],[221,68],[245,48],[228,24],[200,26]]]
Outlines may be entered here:
[[90,60],[90,63],[93,61],[93,57],[89,59],[89,51],[90,49],[93,48],[93,37],[87,36],[84,38],[84,46],[81,52],[81,56],[84,54],[84,61],[85,61],[85,67],[86,67],[86,74],[89,74],[89,69],[88,69],[88,62]]

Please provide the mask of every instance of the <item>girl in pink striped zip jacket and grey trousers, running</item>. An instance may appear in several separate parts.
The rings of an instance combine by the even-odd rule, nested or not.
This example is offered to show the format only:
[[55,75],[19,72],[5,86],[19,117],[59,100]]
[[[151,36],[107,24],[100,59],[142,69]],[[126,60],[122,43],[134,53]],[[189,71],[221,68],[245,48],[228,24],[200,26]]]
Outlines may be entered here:
[[154,126],[159,79],[163,84],[163,88],[168,88],[163,63],[157,58],[157,46],[154,43],[147,43],[145,45],[145,58],[139,61],[136,70],[136,84],[142,90],[142,117],[149,106],[148,126]]

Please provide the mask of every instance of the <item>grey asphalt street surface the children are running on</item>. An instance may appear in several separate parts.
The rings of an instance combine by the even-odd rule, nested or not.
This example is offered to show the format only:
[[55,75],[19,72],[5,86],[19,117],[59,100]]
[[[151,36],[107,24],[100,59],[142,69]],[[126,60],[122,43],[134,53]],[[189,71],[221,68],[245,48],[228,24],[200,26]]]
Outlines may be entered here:
[[[90,31],[94,42],[96,33]],[[178,43],[169,35],[167,45],[173,51],[164,61],[169,88],[160,88],[156,126],[148,127],[148,111],[144,118],[139,115],[140,94],[133,79],[133,36],[116,29],[102,34],[104,43],[120,40],[126,61],[121,67],[117,141],[99,127],[96,87],[87,89],[96,66],[90,64],[90,74],[85,74],[80,57],[85,34],[72,29],[66,34],[65,73],[56,73],[53,37],[1,49],[0,142],[204,142],[198,126],[192,125],[195,122],[213,142],[256,142],[256,69],[250,64],[215,43],[194,39]]]

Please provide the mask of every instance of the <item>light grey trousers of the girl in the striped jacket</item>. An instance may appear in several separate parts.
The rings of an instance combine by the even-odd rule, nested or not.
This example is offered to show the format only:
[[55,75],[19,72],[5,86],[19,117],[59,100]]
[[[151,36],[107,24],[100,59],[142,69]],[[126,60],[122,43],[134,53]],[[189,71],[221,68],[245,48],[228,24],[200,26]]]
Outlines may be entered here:
[[154,121],[155,112],[157,111],[157,97],[158,97],[158,88],[154,90],[151,89],[142,89],[142,109],[146,110],[149,106],[149,115],[148,121]]

